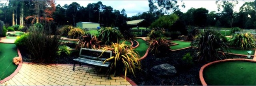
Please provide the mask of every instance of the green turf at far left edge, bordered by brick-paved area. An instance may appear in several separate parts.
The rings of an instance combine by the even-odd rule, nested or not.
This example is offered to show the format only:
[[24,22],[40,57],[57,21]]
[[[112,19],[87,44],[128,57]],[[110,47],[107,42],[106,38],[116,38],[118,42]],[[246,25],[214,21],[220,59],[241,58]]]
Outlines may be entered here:
[[18,56],[15,44],[0,43],[0,80],[10,76],[17,65],[12,63],[13,58]]

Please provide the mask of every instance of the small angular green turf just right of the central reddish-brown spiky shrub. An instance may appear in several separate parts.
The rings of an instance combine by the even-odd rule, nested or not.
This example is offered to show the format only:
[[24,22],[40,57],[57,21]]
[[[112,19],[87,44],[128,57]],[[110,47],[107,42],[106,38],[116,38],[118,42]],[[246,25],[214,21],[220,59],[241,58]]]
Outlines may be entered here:
[[171,41],[171,42],[178,43],[178,45],[170,46],[170,48],[172,50],[182,49],[182,48],[185,48],[185,47],[190,47],[190,43],[191,43],[191,42],[178,41],[178,40],[174,40],[174,41]]

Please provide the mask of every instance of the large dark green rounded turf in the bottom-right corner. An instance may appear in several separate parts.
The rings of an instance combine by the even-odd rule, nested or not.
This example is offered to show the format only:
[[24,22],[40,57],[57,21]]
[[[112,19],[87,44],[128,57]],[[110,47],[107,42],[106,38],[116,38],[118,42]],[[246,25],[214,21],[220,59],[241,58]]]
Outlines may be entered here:
[[207,85],[255,86],[255,66],[256,63],[246,61],[216,63],[206,67],[203,76]]

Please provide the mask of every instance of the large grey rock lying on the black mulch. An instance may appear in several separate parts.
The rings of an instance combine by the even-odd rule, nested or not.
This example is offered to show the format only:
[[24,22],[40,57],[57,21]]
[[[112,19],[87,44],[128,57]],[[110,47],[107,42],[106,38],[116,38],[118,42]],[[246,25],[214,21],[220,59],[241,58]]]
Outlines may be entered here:
[[175,67],[167,63],[156,65],[152,67],[150,70],[157,76],[173,76],[177,73]]

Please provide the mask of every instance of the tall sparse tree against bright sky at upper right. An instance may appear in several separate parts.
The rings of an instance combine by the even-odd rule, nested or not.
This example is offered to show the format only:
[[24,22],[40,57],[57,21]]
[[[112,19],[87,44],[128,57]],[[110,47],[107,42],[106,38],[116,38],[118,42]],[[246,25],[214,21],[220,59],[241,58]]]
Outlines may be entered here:
[[232,1],[216,1],[216,4],[218,5],[218,11],[220,11],[220,8],[223,8],[222,14],[225,16],[226,20],[228,20],[228,23],[230,23],[230,27],[232,27],[233,21],[234,21],[234,7],[236,4],[238,4],[238,1],[232,0]]

